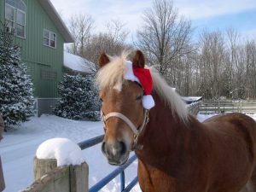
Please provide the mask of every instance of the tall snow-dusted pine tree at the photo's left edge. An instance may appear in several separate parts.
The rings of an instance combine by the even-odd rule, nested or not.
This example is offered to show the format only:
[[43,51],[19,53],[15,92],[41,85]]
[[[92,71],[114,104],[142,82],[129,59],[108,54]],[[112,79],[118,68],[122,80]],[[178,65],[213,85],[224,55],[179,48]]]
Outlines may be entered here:
[[34,114],[33,84],[14,33],[0,30],[0,113],[7,127],[19,125]]

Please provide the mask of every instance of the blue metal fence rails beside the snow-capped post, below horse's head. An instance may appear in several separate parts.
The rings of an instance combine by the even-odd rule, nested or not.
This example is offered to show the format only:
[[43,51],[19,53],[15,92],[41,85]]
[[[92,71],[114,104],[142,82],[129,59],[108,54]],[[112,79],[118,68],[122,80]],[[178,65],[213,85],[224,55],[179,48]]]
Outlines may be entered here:
[[[98,143],[102,143],[102,140],[104,138],[104,135],[98,136],[98,137],[94,137],[91,139],[88,139],[86,141],[80,142],[78,143],[79,147],[84,150],[85,148],[90,148]],[[130,191],[136,184],[137,184],[137,177],[135,177],[131,183],[129,183],[126,187],[125,187],[125,169],[131,165],[131,163],[133,161],[137,160],[137,156],[136,154],[134,154],[133,156],[131,156],[131,158],[129,160],[127,160],[127,162],[122,165],[119,166],[118,168],[116,168],[115,170],[113,170],[113,172],[109,173],[106,177],[102,178],[101,181],[99,181],[98,183],[96,183],[95,185],[93,185],[92,187],[90,187],[89,192],[97,192],[100,189],[102,189],[106,184],[108,184],[110,181],[113,180],[113,178],[117,177],[118,175],[120,175],[120,191],[121,192],[128,192]]]

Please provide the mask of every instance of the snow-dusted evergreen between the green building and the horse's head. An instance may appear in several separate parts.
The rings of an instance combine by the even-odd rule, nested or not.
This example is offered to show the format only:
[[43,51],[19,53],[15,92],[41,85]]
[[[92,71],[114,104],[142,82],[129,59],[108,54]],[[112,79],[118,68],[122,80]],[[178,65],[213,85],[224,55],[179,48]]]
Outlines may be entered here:
[[68,119],[100,119],[100,102],[93,86],[92,76],[64,74],[58,90],[61,101],[53,112]]

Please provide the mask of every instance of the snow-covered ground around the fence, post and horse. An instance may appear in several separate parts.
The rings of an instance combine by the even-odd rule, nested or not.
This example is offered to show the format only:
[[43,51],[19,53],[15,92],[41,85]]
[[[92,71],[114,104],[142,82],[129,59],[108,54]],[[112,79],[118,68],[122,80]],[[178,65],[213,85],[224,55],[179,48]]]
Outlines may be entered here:
[[[211,115],[212,116],[212,115]],[[256,119],[256,115],[252,115]],[[198,115],[201,121],[210,115]],[[43,115],[23,123],[16,130],[3,135],[0,143],[0,155],[3,161],[3,172],[7,185],[4,192],[16,192],[29,186],[33,181],[33,157],[40,143],[53,137],[66,137],[79,143],[91,137],[103,134],[102,122],[75,121],[62,119],[54,115]],[[100,144],[83,150],[84,159],[90,166],[90,186],[115,169],[109,166],[102,155]],[[125,171],[125,182],[130,183],[137,175],[137,161]],[[119,177],[102,189],[103,192],[119,191]],[[132,189],[140,192],[139,186]]]

